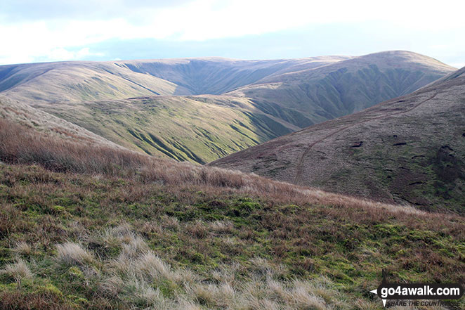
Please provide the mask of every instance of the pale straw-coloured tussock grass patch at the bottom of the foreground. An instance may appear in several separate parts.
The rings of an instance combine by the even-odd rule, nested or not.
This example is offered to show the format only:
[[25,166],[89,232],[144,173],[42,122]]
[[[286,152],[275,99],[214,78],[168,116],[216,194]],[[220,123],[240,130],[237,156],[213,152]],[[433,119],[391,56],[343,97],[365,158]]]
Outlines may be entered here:
[[[105,236],[100,240],[108,244],[103,246],[110,247],[112,240],[117,239],[120,241],[119,247],[123,247],[122,232],[145,243],[142,237],[127,231],[127,226],[92,235]],[[89,243],[94,242],[92,238],[89,240]],[[72,262],[76,262],[76,256],[79,256],[76,252],[82,254],[82,247],[74,243],[56,247],[65,247],[67,252],[72,252],[68,255],[74,258]],[[90,244],[86,247],[90,247]],[[244,273],[240,266],[223,266],[216,269],[213,280],[190,269],[173,268],[146,249],[148,245],[135,249],[131,257],[119,254],[117,259],[94,259],[96,272],[83,273],[86,283],[96,285],[96,291],[89,294],[106,297],[127,309],[350,309],[342,295],[330,288],[333,284],[329,280],[283,280],[280,267],[263,258],[256,257],[250,261],[253,266],[249,269],[251,273]],[[86,254],[98,257],[97,252]],[[69,261],[62,259],[57,263],[67,266]],[[84,269],[84,266],[79,268]],[[73,272],[79,273],[79,269]],[[236,273],[242,276],[237,277]],[[331,298],[325,300],[322,296],[326,295],[331,295]]]

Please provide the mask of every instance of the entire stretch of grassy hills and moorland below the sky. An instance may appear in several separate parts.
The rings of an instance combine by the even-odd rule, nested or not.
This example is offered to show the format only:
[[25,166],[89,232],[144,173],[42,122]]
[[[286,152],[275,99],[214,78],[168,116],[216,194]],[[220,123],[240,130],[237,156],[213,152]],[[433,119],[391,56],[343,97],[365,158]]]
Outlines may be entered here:
[[405,51],[0,66],[0,309],[381,310],[381,269],[464,283],[464,84]]

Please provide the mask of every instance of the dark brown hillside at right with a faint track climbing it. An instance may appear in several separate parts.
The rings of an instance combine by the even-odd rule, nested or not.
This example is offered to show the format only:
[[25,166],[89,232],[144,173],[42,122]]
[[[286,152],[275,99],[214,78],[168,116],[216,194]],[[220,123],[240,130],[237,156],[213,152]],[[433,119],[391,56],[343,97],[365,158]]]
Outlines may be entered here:
[[425,209],[465,209],[465,68],[211,165]]

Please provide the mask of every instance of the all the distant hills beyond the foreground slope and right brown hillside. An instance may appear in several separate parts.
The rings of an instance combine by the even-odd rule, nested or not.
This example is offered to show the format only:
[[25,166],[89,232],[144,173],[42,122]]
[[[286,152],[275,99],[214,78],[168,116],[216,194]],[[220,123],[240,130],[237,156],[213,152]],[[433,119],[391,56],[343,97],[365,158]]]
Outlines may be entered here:
[[452,71],[403,51],[37,63],[0,66],[0,94],[126,148],[203,164],[414,91]]

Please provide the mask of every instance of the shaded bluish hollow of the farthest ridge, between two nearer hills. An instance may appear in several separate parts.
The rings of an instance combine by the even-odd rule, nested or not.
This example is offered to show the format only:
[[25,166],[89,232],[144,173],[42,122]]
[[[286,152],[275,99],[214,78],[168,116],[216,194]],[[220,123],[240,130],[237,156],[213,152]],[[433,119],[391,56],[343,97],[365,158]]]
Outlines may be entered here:
[[[219,95],[237,87],[284,72],[310,69],[348,59],[320,56],[282,60],[237,60],[228,58],[181,58],[166,60],[119,61],[134,72],[166,79],[188,89],[193,95]],[[176,95],[181,93],[175,93]]]

